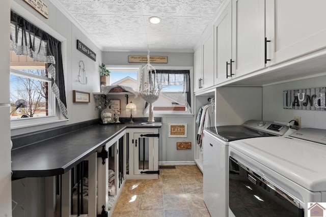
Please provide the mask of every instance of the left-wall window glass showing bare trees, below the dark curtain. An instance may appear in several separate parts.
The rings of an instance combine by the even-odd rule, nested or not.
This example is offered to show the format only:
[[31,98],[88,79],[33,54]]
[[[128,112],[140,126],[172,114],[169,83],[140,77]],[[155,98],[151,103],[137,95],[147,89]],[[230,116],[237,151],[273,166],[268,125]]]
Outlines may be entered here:
[[46,64],[10,51],[11,119],[55,115],[51,78]]

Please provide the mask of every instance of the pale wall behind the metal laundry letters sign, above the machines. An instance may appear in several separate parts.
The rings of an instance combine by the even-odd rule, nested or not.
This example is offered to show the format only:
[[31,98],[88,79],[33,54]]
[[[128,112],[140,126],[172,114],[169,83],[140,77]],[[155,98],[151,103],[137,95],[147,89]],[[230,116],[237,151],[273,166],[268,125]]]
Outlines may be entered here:
[[286,82],[263,87],[263,119],[289,122],[301,117],[302,128],[326,129],[326,112],[283,109],[283,90],[325,87],[326,76]]

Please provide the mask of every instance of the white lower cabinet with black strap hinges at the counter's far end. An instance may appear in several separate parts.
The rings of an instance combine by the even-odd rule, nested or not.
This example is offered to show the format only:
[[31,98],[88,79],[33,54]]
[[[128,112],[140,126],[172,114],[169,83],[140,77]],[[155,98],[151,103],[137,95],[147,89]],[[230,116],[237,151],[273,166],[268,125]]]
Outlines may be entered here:
[[157,128],[128,129],[126,148],[126,176],[129,179],[158,178]]

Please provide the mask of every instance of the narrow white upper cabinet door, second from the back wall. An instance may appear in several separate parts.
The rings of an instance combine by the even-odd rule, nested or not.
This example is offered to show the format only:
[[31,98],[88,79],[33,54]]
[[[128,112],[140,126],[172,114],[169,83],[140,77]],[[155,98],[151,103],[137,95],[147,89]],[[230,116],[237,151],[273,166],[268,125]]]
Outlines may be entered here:
[[203,88],[214,85],[214,29],[208,29],[208,37],[203,41]]

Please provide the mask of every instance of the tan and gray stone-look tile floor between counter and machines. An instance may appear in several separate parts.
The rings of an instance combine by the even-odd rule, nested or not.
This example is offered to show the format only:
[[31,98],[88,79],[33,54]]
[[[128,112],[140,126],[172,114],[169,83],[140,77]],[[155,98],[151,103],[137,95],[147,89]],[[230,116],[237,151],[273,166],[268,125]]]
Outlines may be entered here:
[[203,175],[196,165],[177,165],[160,169],[158,179],[126,180],[111,216],[209,217]]

